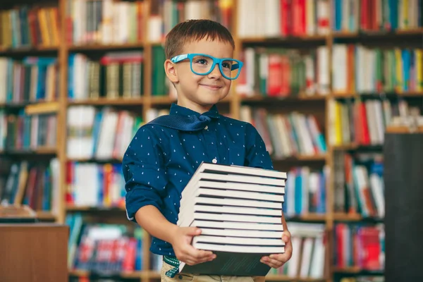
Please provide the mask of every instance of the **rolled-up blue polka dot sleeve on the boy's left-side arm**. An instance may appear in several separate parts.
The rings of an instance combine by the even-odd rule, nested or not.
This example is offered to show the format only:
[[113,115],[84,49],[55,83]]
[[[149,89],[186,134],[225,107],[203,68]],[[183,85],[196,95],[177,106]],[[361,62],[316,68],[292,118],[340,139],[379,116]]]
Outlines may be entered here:
[[151,125],[143,126],[126,150],[122,170],[125,178],[125,206],[130,221],[135,213],[149,204],[161,210],[166,196],[166,168],[160,137]]

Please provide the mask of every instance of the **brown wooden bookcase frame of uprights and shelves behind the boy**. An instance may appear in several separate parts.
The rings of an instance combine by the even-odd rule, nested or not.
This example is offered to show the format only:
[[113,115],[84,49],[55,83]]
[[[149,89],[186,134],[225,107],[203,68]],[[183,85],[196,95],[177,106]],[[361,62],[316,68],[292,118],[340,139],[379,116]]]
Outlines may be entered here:
[[[152,1],[155,0],[144,0],[145,4],[147,5],[143,11],[144,19],[149,18],[149,11]],[[8,4],[11,4],[12,1],[8,1]],[[59,7],[59,13],[64,15],[66,13],[66,0],[52,0],[51,3],[55,3],[56,6]],[[49,2],[49,3],[50,3]],[[237,8],[237,0],[233,0],[233,11],[236,11]],[[18,1],[18,5],[21,4],[36,4],[37,1],[26,0],[26,1]],[[60,78],[59,78],[59,100],[56,102],[39,102],[37,104],[30,104],[25,107],[25,111],[27,114],[45,114],[45,113],[56,113],[58,116],[58,124],[60,125],[57,128],[57,146],[56,148],[44,148],[44,149],[37,149],[35,152],[31,152],[31,154],[51,154],[56,155],[60,162],[60,183],[61,183],[61,202],[59,203],[60,212],[56,216],[55,221],[59,223],[63,223],[68,212],[76,212],[81,211],[90,216],[99,216],[99,213],[104,215],[104,212],[108,212],[107,210],[100,210],[94,208],[79,208],[79,207],[66,207],[65,202],[65,191],[66,191],[66,163],[68,161],[73,161],[68,159],[66,156],[66,112],[69,106],[72,105],[93,105],[93,106],[135,106],[137,109],[140,110],[142,116],[145,120],[146,113],[148,109],[154,108],[156,106],[166,107],[170,106],[172,99],[170,99],[165,93],[163,97],[156,97],[152,96],[152,47],[157,44],[161,44],[161,42],[149,42],[144,40],[137,44],[121,44],[121,45],[87,45],[87,46],[72,46],[67,43],[66,40],[66,17],[61,16],[60,20],[60,43],[57,47],[35,47],[31,49],[8,49],[8,50],[1,50],[0,49],[0,56],[27,56],[33,55],[38,56],[42,54],[56,54],[55,56],[59,59],[59,69],[60,69]],[[236,24],[237,21],[237,13],[233,12],[233,37],[235,39],[235,57],[239,56],[240,50],[242,50],[245,45],[248,46],[255,46],[255,44],[260,46],[266,46],[266,44],[271,44],[272,47],[283,46],[286,42],[290,42],[294,47],[300,47],[302,44],[309,44],[310,42],[322,42],[322,44],[326,45],[329,48],[329,66],[331,66],[331,47],[333,46],[334,42],[337,39],[348,39],[350,42],[355,42],[355,40],[367,40],[367,39],[383,39],[385,37],[389,37],[395,40],[407,39],[410,37],[419,37],[420,39],[423,37],[423,28],[415,29],[415,30],[404,30],[389,33],[388,35],[384,35],[381,33],[375,34],[355,34],[355,33],[343,33],[343,32],[329,32],[327,35],[315,35],[309,37],[293,37],[293,38],[276,38],[276,39],[266,39],[264,37],[257,37],[257,38],[240,38],[236,33]],[[148,26],[147,21],[144,23],[145,32],[144,35],[147,35]],[[86,101],[69,101],[68,100],[68,55],[74,51],[118,51],[118,50],[137,50],[142,49],[143,56],[144,56],[144,90],[143,96],[139,99],[94,99],[94,100],[86,100]],[[331,75],[329,75],[331,78]],[[324,117],[324,128],[326,131],[326,143],[329,143],[329,136],[328,136],[328,128],[329,128],[329,114],[328,114],[328,104],[331,99],[343,99],[343,98],[359,98],[359,94],[355,93],[330,93],[325,96],[312,96],[312,97],[286,97],[286,98],[264,98],[264,97],[240,97],[238,94],[235,93],[236,87],[236,80],[233,82],[233,87],[231,88],[231,94],[228,96],[221,103],[225,103],[228,105],[229,112],[233,118],[240,118],[240,106],[243,103],[255,104],[256,102],[263,102],[265,99],[269,99],[269,102],[272,104],[280,104],[283,105],[285,102],[289,102],[290,106],[295,108],[296,106],[301,106],[303,104],[307,104],[309,111],[316,112],[321,114]],[[375,97],[378,97],[376,94]],[[423,92],[420,93],[407,93],[407,94],[398,94],[398,97],[423,97]],[[265,105],[265,104],[264,104]],[[11,105],[4,104],[0,107],[8,107]],[[15,105],[16,106],[16,105]],[[24,105],[21,105],[24,106]],[[333,170],[334,159],[333,154],[336,150],[355,150],[357,149],[357,145],[342,145],[342,146],[330,146],[327,145],[327,153],[324,155],[318,156],[296,156],[290,157],[288,159],[283,159],[278,162],[283,162],[283,166],[298,166],[298,165],[308,165],[314,164],[317,166],[324,166],[327,165]],[[19,152],[16,152],[19,154]],[[82,160],[75,160],[75,161],[82,161]],[[360,269],[355,268],[348,268],[348,269],[338,269],[333,266],[332,262],[332,254],[333,254],[333,225],[336,221],[361,221],[362,217],[360,214],[340,214],[333,212],[333,174],[331,173],[329,185],[326,187],[326,214],[306,214],[304,216],[300,216],[298,219],[300,221],[311,221],[311,222],[320,222],[326,225],[326,231],[328,235],[327,245],[326,245],[326,266],[325,266],[325,277],[324,279],[314,280],[309,278],[288,278],[284,276],[269,276],[267,280],[269,281],[332,281],[333,280],[333,273],[334,272],[345,272],[345,273],[359,273]],[[110,212],[116,212],[116,209],[111,210]],[[125,213],[123,209],[117,209],[119,214],[122,214],[122,222],[126,221]],[[46,219],[51,219],[51,215],[44,214],[43,215]],[[288,223],[289,225],[289,223]],[[149,237],[146,236],[145,240],[143,240],[144,244],[144,256],[143,256],[143,266],[145,269],[150,269],[149,263]],[[85,273],[84,271],[71,271],[71,275],[73,276],[88,276],[90,274]],[[138,272],[131,272],[131,273],[122,273],[120,275],[122,278],[139,278],[141,281],[158,281],[159,274],[155,271],[143,270]]]

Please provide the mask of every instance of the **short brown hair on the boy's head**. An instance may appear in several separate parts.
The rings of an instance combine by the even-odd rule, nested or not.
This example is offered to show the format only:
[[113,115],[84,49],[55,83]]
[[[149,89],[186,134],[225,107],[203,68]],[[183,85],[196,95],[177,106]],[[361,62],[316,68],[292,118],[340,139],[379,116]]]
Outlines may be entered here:
[[213,20],[187,20],[175,25],[166,35],[166,42],[164,43],[166,59],[171,59],[173,56],[178,55],[186,43],[198,41],[204,37],[228,42],[235,49],[235,42],[233,42],[231,32],[220,23]]

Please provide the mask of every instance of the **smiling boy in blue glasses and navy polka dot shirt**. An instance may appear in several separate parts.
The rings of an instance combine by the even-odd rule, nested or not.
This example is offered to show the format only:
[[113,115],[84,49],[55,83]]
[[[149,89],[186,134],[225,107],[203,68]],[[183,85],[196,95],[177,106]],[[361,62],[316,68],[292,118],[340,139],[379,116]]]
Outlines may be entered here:
[[[264,277],[177,274],[216,257],[190,245],[200,228],[176,226],[180,195],[202,161],[273,169],[262,137],[250,124],[221,116],[216,103],[229,92],[242,63],[231,59],[231,33],[212,20],[179,23],[166,36],[164,68],[178,93],[170,114],[143,125],[123,157],[126,212],[152,235],[150,251],[164,256],[161,281],[264,281]],[[219,59],[225,60],[219,61]],[[278,268],[290,259],[290,233],[282,216],[284,254],[263,257]]]

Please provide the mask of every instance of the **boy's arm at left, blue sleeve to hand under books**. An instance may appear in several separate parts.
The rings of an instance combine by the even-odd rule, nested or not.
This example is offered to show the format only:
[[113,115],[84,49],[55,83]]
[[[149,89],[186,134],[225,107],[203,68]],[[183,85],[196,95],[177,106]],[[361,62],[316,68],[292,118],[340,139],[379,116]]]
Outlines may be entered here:
[[171,243],[176,257],[189,265],[212,260],[212,252],[190,245],[192,236],[200,235],[200,229],[180,228],[161,213],[168,178],[164,152],[159,144],[157,131],[144,126],[137,131],[125,152],[122,169],[128,219],[137,222],[150,235]]

